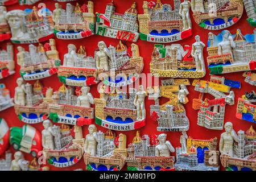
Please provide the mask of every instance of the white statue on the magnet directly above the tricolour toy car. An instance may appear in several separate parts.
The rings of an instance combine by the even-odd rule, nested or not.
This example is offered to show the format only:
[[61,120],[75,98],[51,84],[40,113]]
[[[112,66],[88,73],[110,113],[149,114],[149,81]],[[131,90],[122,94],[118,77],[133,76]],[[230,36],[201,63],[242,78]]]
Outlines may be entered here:
[[17,87],[15,88],[14,103],[16,105],[26,105],[26,90],[23,78],[17,79]]

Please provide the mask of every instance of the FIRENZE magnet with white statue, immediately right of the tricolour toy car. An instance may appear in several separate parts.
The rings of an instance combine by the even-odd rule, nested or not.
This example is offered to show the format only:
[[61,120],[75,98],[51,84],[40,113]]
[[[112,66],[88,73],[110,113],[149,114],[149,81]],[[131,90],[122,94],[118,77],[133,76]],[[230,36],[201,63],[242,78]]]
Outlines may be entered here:
[[48,119],[43,122],[42,145],[44,157],[52,166],[63,168],[73,166],[84,154],[82,127],[62,124],[52,125]]

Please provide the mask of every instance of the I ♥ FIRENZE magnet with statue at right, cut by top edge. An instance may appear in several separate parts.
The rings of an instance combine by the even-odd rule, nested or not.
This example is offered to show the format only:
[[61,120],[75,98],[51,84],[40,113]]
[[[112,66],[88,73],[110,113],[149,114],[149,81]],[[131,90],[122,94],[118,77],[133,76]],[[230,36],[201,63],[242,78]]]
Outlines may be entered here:
[[141,40],[154,43],[176,42],[192,35],[191,3],[174,0],[174,7],[161,0],[143,1],[144,14],[138,15]]

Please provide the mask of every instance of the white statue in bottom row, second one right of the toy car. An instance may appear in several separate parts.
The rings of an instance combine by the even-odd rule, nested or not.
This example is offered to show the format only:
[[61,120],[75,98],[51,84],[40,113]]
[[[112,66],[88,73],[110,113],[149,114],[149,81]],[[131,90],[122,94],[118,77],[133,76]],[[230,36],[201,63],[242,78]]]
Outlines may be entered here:
[[95,125],[89,125],[89,134],[85,137],[84,152],[90,154],[91,156],[96,156],[97,147],[97,127]]

